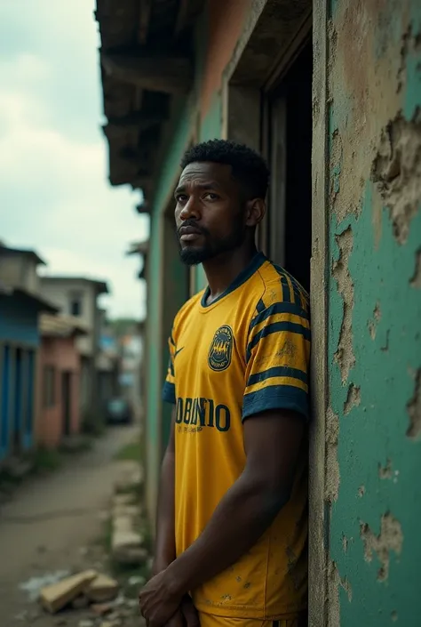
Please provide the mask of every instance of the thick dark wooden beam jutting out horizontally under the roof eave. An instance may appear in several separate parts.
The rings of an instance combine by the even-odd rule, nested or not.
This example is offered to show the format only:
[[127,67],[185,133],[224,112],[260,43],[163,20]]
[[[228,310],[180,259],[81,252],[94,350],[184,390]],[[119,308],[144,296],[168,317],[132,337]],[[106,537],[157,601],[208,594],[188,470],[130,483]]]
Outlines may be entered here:
[[101,52],[101,63],[108,76],[151,92],[187,93],[193,84],[191,60],[171,53]]

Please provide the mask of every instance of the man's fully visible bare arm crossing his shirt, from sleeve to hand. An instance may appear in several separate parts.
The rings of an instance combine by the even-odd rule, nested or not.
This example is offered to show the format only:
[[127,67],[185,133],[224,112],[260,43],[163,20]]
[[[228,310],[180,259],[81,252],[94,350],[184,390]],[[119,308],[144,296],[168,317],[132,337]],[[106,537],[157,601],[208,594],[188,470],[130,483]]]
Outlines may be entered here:
[[287,410],[244,422],[247,462],[211,520],[187,551],[140,592],[150,627],[162,627],[187,591],[231,566],[258,542],[289,501],[304,433],[304,418]]

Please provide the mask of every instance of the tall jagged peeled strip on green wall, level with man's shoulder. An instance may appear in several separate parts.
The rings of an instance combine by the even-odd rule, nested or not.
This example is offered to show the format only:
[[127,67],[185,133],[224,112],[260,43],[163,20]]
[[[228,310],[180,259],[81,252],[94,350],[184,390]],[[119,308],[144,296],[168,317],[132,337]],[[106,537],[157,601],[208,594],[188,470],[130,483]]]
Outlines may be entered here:
[[351,226],[337,235],[336,241],[339,248],[339,258],[333,263],[332,276],[338,284],[338,293],[344,301],[344,313],[335,360],[339,366],[342,383],[345,384],[350,370],[355,365],[353,354],[353,279],[348,269],[349,258],[353,250]]

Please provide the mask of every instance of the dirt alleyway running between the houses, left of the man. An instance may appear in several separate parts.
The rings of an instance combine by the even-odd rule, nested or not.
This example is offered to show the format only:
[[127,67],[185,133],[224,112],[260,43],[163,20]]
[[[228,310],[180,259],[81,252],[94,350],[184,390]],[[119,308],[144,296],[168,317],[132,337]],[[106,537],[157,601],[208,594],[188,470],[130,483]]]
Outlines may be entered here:
[[104,569],[98,541],[115,480],[133,462],[115,454],[139,437],[137,426],[108,430],[86,453],[46,478],[29,479],[0,511],[0,623],[78,625],[81,616],[42,613],[28,591],[32,577],[60,570]]

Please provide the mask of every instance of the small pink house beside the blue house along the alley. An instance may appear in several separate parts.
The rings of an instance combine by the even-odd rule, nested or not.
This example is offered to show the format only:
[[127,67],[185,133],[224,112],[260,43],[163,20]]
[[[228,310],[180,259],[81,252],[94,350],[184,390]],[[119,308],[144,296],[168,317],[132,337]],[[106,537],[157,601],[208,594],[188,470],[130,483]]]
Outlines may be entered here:
[[86,334],[71,316],[42,315],[38,360],[38,446],[55,448],[80,432],[80,355],[76,337]]

